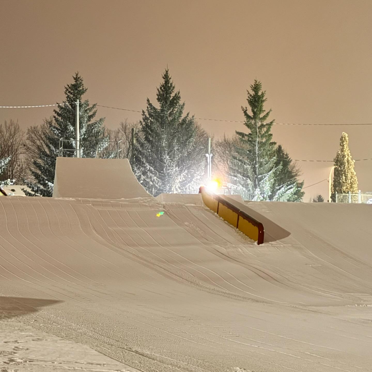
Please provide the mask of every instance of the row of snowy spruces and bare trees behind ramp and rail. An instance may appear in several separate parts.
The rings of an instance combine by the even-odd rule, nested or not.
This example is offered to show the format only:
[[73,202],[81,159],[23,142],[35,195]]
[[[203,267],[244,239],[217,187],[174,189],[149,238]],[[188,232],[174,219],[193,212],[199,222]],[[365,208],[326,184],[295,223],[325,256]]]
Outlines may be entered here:
[[[75,156],[77,101],[81,157],[96,157],[97,151],[100,157],[114,157],[108,141],[122,140],[123,157],[129,159],[138,181],[151,195],[195,193],[206,182],[210,135],[194,116],[184,114],[185,102],[168,69],[157,88],[157,104],[147,98],[142,119],[121,122],[117,129],[106,128],[105,118],[96,118],[97,104],[83,99],[86,92],[77,72],[73,82],[65,86],[65,100],[57,103],[53,115],[42,124],[30,126],[26,132],[12,120],[0,124],[0,182],[26,185],[28,196],[52,196],[56,158]],[[212,138],[215,173],[224,179],[230,193],[241,194],[246,200],[301,201],[301,171],[282,145],[273,141],[274,120],[269,121],[271,109],[265,110],[265,102],[266,92],[255,80],[247,90],[248,107],[241,106],[246,131],[235,131],[232,137],[220,140]]]

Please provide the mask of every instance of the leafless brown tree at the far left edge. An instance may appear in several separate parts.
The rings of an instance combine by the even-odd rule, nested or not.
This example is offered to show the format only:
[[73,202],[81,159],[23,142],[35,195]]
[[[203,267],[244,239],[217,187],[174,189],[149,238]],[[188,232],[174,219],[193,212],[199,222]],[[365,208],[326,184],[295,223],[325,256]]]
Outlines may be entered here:
[[0,158],[10,157],[9,163],[0,176],[1,180],[11,179],[15,183],[23,183],[27,174],[24,159],[23,140],[25,133],[20,129],[18,121],[0,123]]

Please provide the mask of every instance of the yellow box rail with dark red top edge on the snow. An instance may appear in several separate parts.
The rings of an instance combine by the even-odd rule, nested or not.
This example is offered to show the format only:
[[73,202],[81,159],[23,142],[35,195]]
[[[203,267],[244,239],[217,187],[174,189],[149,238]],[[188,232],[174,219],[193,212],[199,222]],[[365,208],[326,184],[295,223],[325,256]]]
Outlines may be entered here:
[[222,217],[247,237],[257,241],[257,244],[263,243],[264,228],[261,222],[221,198],[221,196],[209,193],[204,186],[199,188],[199,193],[202,194],[204,204],[217,213],[219,217]]

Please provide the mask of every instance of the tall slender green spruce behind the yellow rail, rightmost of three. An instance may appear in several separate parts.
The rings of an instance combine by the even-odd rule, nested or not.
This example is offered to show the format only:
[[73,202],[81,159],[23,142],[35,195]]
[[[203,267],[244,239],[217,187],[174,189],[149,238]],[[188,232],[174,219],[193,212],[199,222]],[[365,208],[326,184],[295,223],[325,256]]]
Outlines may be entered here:
[[260,81],[255,80],[250,88],[252,93],[247,90],[247,102],[252,113],[248,113],[247,107],[241,108],[245,117],[244,125],[249,133],[235,131],[240,144],[234,146],[228,185],[232,193],[241,194],[245,200],[270,200],[275,171],[278,170],[275,165],[276,143],[272,141],[270,133],[274,120],[266,123],[271,109],[268,112],[264,110],[263,105],[267,99]]

